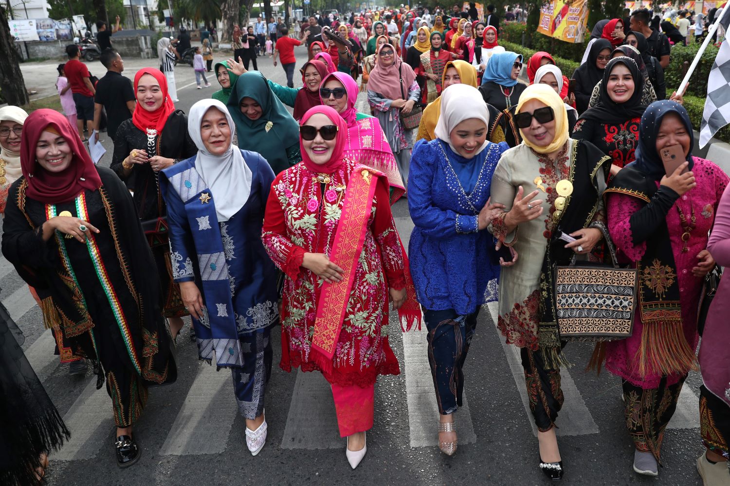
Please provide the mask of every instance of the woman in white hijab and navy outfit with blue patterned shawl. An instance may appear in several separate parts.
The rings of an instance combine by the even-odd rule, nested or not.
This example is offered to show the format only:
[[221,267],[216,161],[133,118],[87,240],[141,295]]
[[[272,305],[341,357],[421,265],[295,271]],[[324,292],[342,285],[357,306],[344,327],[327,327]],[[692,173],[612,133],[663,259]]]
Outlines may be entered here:
[[[252,455],[266,442],[264,391],[271,375],[269,332],[279,320],[277,270],[261,243],[274,171],[231,143],[235,126],[218,100],[188,114],[195,157],[161,172],[172,274],[190,311],[199,358],[231,368]],[[219,399],[223,399],[220,397]]]

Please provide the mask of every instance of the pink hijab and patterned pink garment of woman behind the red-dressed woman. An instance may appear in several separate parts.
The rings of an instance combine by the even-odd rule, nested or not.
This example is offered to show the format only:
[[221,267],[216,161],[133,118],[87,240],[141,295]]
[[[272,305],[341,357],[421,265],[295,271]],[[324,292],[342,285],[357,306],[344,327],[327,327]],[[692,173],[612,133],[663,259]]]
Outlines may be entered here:
[[384,173],[393,189],[391,204],[395,203],[405,192],[405,187],[398,171],[396,157],[393,157],[391,145],[385,138],[380,122],[375,117],[363,114],[360,114],[358,119],[358,111],[355,108],[358,84],[350,74],[339,71],[328,74],[320,86],[324,86],[330,79],[337,79],[347,90],[347,107],[339,114],[347,123],[347,139],[343,149],[345,157]]

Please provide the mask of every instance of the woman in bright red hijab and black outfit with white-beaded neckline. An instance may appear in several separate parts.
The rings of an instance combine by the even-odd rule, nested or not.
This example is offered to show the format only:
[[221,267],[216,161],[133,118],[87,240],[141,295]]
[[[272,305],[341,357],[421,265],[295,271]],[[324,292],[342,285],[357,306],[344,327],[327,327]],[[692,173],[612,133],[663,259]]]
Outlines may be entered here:
[[167,94],[164,74],[155,68],[140,69],[134,75],[134,93],[137,106],[131,119],[119,125],[110,168],[133,193],[160,274],[165,316],[170,320],[172,335],[177,337],[188,311],[180,287],[172,280],[167,211],[160,195],[158,172],[193,157],[198,149],[188,135],[185,113],[175,110]]

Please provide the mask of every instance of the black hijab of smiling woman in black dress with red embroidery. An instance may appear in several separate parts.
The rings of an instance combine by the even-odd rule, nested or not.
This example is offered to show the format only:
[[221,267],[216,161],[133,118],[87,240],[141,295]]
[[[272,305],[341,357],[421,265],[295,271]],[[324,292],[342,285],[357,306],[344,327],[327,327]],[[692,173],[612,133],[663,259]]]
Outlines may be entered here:
[[[634,78],[634,93],[631,94],[629,101],[625,103],[616,103],[608,94],[608,78],[611,70],[616,64],[623,64],[629,71],[631,77]],[[589,119],[593,122],[607,123],[610,125],[626,123],[632,118],[639,118],[644,114],[646,105],[641,104],[642,94],[644,93],[644,77],[639,71],[637,63],[631,59],[622,56],[621,58],[613,58],[604,69],[603,80],[601,82],[601,98],[598,105],[583,112],[581,119]]]

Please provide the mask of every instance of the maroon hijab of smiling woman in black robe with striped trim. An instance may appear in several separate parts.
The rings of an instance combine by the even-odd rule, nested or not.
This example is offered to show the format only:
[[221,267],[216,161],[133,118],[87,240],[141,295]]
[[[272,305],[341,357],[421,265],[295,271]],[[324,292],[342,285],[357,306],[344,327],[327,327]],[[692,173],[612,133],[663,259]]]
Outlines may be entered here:
[[[48,172],[36,161],[38,139],[48,127],[52,127],[71,146],[71,164],[61,172]],[[95,191],[101,187],[99,173],[76,128],[64,115],[51,109],[36,110],[23,123],[20,168],[28,181],[26,195],[44,204],[68,203],[84,190]]]

